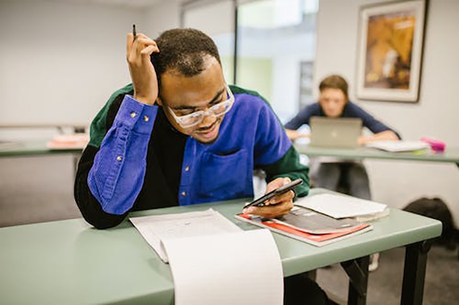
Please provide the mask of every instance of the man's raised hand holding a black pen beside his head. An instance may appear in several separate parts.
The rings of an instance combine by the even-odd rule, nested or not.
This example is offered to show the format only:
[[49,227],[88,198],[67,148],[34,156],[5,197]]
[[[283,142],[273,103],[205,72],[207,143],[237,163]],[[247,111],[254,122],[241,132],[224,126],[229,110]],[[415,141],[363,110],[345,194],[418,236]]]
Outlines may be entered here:
[[159,52],[154,40],[136,33],[127,34],[126,59],[134,86],[134,98],[139,102],[152,105],[158,97],[158,78],[150,61],[153,52]]

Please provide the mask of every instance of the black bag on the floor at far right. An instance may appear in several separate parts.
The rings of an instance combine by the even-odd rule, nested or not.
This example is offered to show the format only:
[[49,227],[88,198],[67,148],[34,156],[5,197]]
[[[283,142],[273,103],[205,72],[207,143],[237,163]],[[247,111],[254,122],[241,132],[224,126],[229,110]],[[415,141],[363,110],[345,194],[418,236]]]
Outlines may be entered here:
[[443,224],[443,231],[435,242],[451,250],[456,248],[459,243],[459,231],[455,228],[451,211],[443,200],[423,197],[411,202],[403,210],[440,220]]

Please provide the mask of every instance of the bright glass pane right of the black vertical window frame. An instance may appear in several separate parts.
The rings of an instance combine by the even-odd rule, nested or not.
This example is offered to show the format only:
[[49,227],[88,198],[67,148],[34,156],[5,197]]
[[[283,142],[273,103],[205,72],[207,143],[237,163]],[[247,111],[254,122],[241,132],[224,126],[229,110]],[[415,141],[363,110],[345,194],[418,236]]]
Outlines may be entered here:
[[283,123],[313,102],[318,0],[238,6],[237,85],[256,90]]

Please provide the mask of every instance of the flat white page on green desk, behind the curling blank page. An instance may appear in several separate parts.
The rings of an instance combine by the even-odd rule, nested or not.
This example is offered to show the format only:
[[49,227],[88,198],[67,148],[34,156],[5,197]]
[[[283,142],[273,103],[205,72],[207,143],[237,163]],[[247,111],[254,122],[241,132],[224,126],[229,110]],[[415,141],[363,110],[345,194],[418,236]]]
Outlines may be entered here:
[[165,239],[242,231],[241,228],[213,209],[131,217],[129,220],[166,263],[168,262],[168,255],[162,244]]

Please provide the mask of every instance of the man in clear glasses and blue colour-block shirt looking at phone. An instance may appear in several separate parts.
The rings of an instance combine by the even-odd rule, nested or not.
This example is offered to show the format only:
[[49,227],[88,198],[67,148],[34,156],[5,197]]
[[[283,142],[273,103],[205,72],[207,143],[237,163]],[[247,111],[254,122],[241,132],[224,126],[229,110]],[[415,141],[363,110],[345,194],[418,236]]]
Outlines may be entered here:
[[[91,125],[80,160],[75,200],[88,223],[118,225],[134,210],[253,196],[252,173],[267,174],[267,191],[308,168],[267,102],[227,86],[218,50],[191,29],[156,41],[127,36],[132,85],[115,92]],[[246,213],[274,217],[293,207],[294,192]]]

